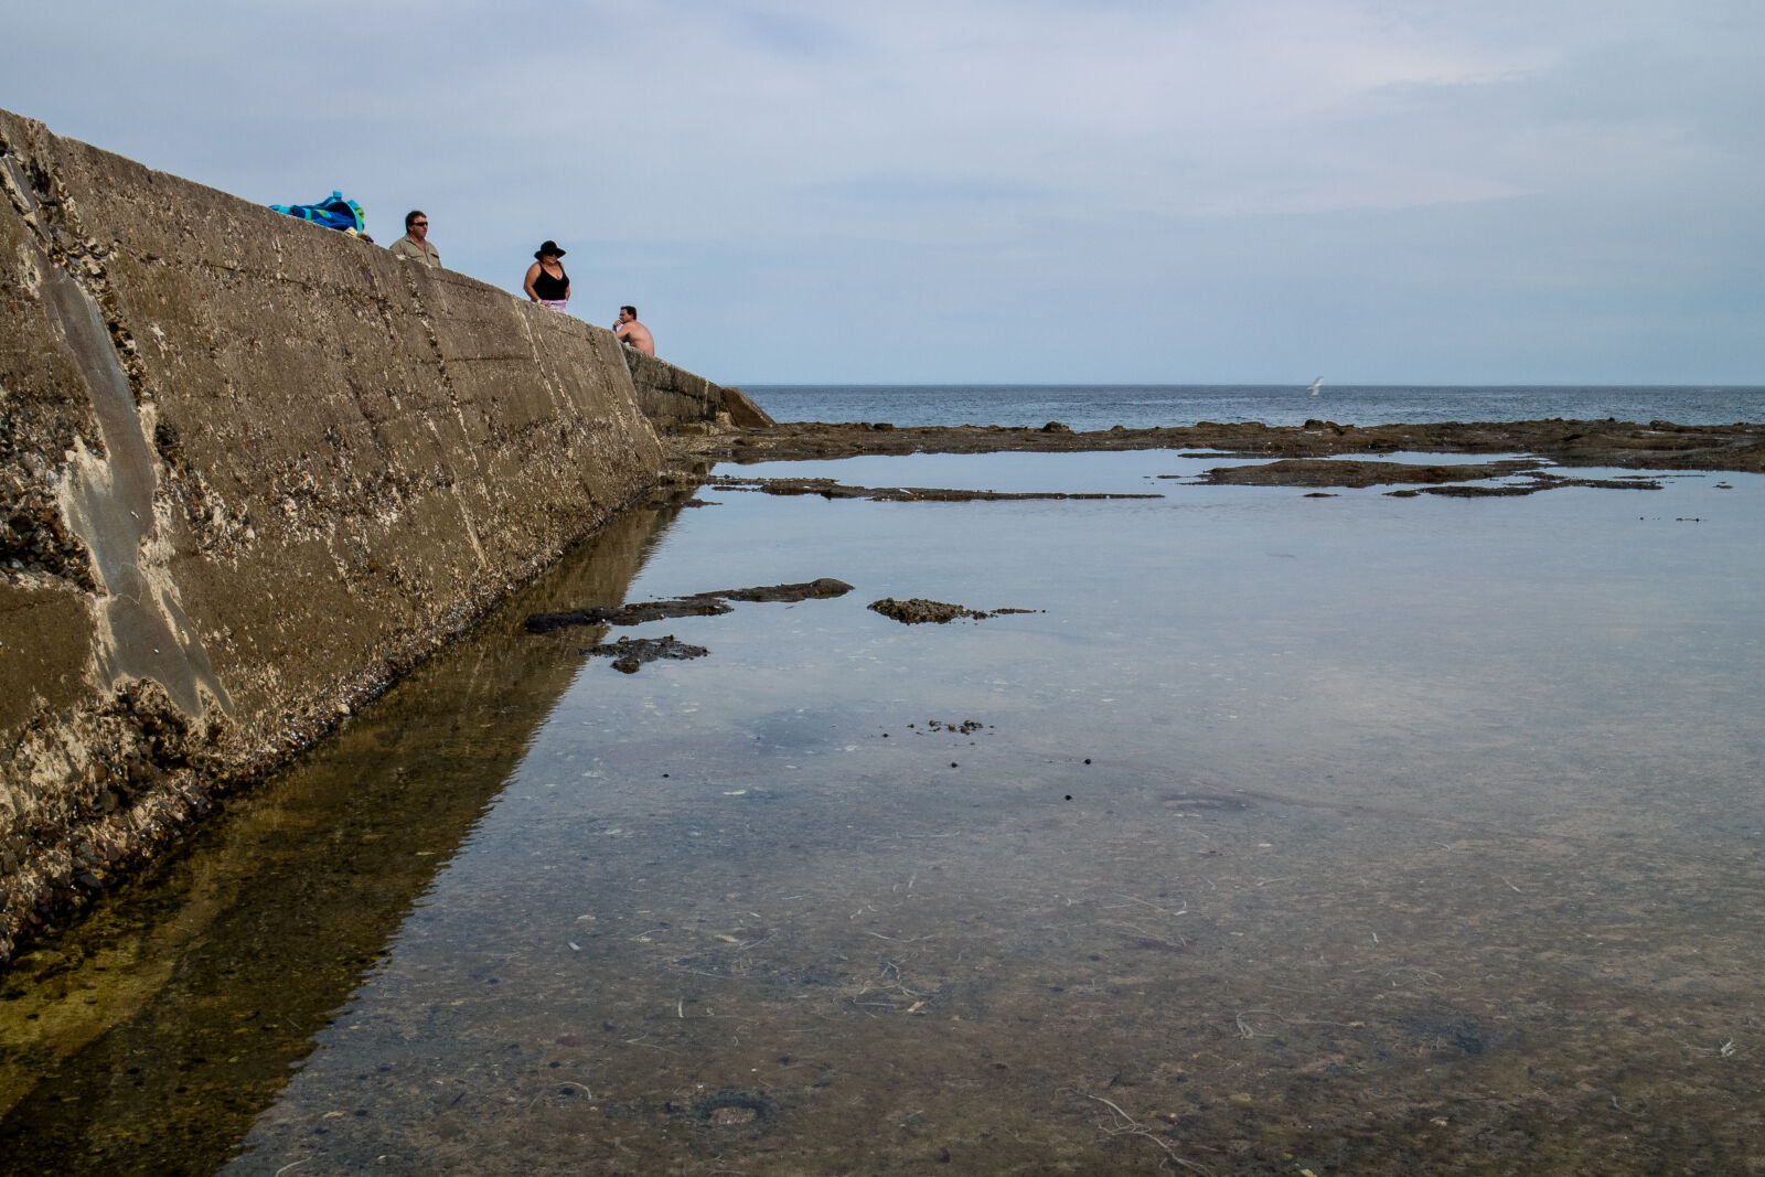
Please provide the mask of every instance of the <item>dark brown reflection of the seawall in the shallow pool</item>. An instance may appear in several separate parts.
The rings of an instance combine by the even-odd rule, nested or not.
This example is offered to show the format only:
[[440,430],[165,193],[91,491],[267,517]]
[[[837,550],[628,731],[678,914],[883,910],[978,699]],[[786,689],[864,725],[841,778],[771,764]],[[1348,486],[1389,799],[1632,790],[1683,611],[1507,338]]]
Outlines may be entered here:
[[634,508],[311,757],[19,958],[0,1142],[19,1172],[212,1172],[469,836],[678,506]]

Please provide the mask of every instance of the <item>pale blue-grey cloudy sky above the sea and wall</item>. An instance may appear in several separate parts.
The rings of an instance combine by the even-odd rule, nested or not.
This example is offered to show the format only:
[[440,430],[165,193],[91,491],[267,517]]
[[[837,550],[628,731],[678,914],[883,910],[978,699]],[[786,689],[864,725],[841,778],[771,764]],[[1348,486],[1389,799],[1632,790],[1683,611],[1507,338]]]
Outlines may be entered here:
[[0,106],[731,385],[1765,383],[1760,0],[0,0]]

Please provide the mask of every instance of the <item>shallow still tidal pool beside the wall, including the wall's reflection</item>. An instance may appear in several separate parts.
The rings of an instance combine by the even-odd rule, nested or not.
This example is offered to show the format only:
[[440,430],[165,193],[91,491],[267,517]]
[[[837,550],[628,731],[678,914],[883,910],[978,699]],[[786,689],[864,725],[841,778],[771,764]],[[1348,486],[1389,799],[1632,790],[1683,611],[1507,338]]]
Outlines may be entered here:
[[623,521],[9,978],[18,1172],[1756,1168],[1765,478],[1209,464]]

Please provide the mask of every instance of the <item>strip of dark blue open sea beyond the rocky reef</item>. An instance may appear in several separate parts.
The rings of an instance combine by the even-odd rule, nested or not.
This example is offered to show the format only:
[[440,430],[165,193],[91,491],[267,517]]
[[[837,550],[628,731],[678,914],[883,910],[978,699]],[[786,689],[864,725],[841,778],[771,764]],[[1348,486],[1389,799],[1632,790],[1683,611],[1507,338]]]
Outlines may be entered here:
[[780,422],[1045,425],[1077,431],[1197,422],[1423,425],[1437,422],[1765,422],[1765,386],[1476,385],[745,385]]

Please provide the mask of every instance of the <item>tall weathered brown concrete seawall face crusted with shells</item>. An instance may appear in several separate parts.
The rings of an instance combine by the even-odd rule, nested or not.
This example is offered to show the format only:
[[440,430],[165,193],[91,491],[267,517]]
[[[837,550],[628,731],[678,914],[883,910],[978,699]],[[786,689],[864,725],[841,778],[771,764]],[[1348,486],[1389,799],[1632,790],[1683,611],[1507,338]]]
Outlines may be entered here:
[[0,111],[0,960],[658,462],[609,330]]

